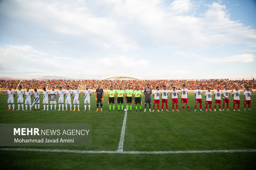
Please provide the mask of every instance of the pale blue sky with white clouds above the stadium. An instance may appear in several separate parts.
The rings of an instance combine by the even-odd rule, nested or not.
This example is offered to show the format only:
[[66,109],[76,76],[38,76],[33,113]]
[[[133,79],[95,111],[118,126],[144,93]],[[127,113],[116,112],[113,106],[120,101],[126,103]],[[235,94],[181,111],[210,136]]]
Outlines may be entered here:
[[255,0],[0,0],[0,77],[256,77]]

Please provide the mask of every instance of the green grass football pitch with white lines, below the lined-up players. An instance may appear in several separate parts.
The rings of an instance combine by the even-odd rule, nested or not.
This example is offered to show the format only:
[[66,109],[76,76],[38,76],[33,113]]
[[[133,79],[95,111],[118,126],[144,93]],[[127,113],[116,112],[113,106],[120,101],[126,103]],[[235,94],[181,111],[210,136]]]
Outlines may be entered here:
[[[203,95],[204,96],[204,95]],[[142,99],[144,95],[142,95]],[[42,98],[40,98],[42,100]],[[244,112],[241,94],[240,112],[194,112],[194,94],[188,95],[191,112],[109,112],[104,95],[103,112],[96,111],[91,95],[91,112],[6,111],[7,94],[0,94],[0,123],[90,123],[89,147],[1,147],[1,169],[254,169],[256,167],[256,94],[252,94],[252,112]],[[142,100],[144,101],[144,100]],[[153,97],[152,97],[153,102]],[[124,104],[124,107],[126,103]],[[153,103],[151,109],[153,107]],[[25,106],[24,106],[25,108]],[[50,106],[49,106],[50,108]],[[139,107],[138,107],[139,108]],[[157,108],[157,105],[156,105]],[[221,107],[222,108],[222,107]],[[57,109],[58,104],[57,104]],[[73,109],[73,107],[72,107]],[[209,109],[209,108],[208,108]],[[161,103],[160,103],[161,110]],[[164,105],[165,110],[165,105]],[[212,105],[214,110],[214,103]],[[218,110],[218,106],[217,106]],[[236,105],[237,110],[237,105]]]

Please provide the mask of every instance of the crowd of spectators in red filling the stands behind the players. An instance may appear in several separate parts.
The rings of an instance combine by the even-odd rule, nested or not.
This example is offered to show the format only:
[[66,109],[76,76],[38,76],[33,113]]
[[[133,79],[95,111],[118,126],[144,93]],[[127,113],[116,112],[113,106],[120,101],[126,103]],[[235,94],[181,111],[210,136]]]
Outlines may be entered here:
[[84,80],[75,80],[75,79],[44,79],[44,80],[0,80],[1,88],[8,88],[12,86],[12,88],[17,88],[20,82],[20,86],[22,88],[38,88],[42,89],[43,87],[47,87],[51,89],[52,87],[59,88],[62,86],[64,89],[66,86],[70,86],[71,89],[74,89],[75,86],[78,88],[85,88],[85,86],[89,86],[90,89],[96,89],[98,85],[103,89],[109,89],[110,86],[114,86],[114,89],[117,89],[119,86],[123,86],[123,88],[127,88],[128,84],[130,84],[133,89],[135,86],[139,86],[140,89],[144,89],[147,84],[150,84],[152,88],[156,86],[166,86],[167,89],[171,89],[173,86],[176,86],[177,89],[180,89],[183,84],[186,85],[186,88],[189,90],[196,89],[197,86],[201,86],[204,90],[207,88],[217,89],[220,87],[221,89],[224,86],[228,86],[229,89],[235,89],[238,87],[240,89],[249,86],[250,88],[256,89],[256,81],[254,79],[251,80],[229,80],[229,79],[200,79],[200,80],[131,80],[131,79],[122,79],[122,80],[96,80],[96,79],[84,79]]

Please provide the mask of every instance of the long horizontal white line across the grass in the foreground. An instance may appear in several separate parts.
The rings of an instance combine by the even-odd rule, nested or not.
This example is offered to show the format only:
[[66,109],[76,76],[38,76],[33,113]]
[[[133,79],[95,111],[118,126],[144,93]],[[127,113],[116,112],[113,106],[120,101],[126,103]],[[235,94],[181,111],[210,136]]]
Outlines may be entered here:
[[196,154],[196,153],[256,152],[256,149],[202,150],[202,151],[81,151],[81,150],[62,150],[62,149],[0,148],[0,150],[2,151],[66,152],[66,153],[79,153],[79,154]]

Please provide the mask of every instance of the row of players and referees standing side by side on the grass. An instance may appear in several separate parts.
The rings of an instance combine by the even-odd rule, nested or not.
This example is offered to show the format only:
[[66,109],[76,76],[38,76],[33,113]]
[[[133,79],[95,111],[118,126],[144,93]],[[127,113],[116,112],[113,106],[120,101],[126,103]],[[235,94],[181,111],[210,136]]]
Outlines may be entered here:
[[[156,90],[152,93],[152,90],[150,88],[150,85],[147,85],[147,88],[145,88],[144,91],[144,95],[145,95],[145,110],[144,112],[146,112],[146,107],[147,107],[147,103],[149,104],[149,112],[151,112],[151,94],[154,96],[154,105],[153,105],[153,112],[155,109],[155,104],[157,104],[157,111],[159,112],[159,103],[160,103],[160,98],[159,96],[161,95],[162,98],[162,110],[164,109],[164,103],[166,104],[166,111],[168,112],[168,90],[166,90],[166,86],[163,86],[163,90],[159,91],[159,86],[156,86]],[[78,90],[78,87],[75,86],[75,90],[71,91],[69,86],[66,87],[66,91],[62,90],[62,87],[59,87],[59,91],[58,93],[55,91],[55,88],[52,88],[52,91],[47,91],[46,88],[43,88],[43,105],[44,105],[44,109],[45,109],[45,105],[47,106],[47,110],[48,110],[48,100],[49,100],[49,96],[50,95],[55,95],[53,100],[50,100],[50,110],[52,110],[52,105],[54,104],[54,109],[56,110],[56,96],[58,94],[58,103],[59,103],[59,110],[61,109],[61,105],[62,105],[62,110],[64,110],[64,97],[65,97],[65,104],[66,104],[66,110],[67,110],[67,106],[68,104],[70,105],[70,110],[71,110],[71,97],[73,94],[73,104],[74,104],[74,109],[73,111],[76,111],[76,105],[78,105],[78,111],[79,110],[79,99],[80,99],[80,91]],[[185,111],[185,105],[184,103],[186,103],[187,105],[187,109],[188,111],[190,111],[189,109],[189,105],[188,105],[188,100],[187,100],[187,94],[188,94],[188,89],[185,88],[185,85],[182,86],[181,91],[179,92],[178,90],[175,89],[175,87],[173,87],[173,90],[171,90],[170,92],[170,96],[172,99],[172,104],[173,104],[173,112],[174,112],[174,105],[176,104],[176,111],[179,112],[178,110],[178,96],[179,93],[181,93],[181,102],[183,104],[183,111]],[[14,110],[14,97],[15,97],[15,92],[12,91],[12,88],[9,88],[9,91],[7,91],[8,94],[8,99],[7,99],[7,103],[8,103],[8,110],[11,110],[11,104],[12,104],[12,110]],[[90,95],[92,94],[92,92],[89,89],[89,86],[86,86],[86,90],[83,92],[84,95],[84,104],[85,104],[85,110],[86,110],[86,105],[88,103],[88,108],[90,111]],[[29,105],[29,108],[31,110],[31,107],[33,107],[33,105],[35,105],[35,110],[36,110],[36,104],[38,105],[38,109],[40,107],[40,92],[37,91],[36,89],[34,89],[33,93],[31,91],[29,91],[29,88],[26,89],[26,92],[22,91],[21,86],[18,87],[18,91],[17,91],[17,102],[18,102],[18,109],[20,109],[20,104],[22,107],[22,110],[24,110],[24,106],[23,106],[23,101],[24,101],[24,95],[26,95],[25,98],[25,105],[26,105],[26,110],[27,105]],[[196,101],[195,101],[195,109],[194,111],[196,111],[197,109],[197,104],[200,104],[200,111],[202,111],[202,90],[200,89],[199,86],[197,86],[197,89],[194,91],[194,95],[196,96]],[[235,111],[235,104],[237,104],[238,107],[238,111],[239,107],[240,107],[240,91],[238,88],[236,88],[235,91],[233,91],[232,96],[234,98],[234,104],[233,104],[233,109]],[[34,102],[31,105],[31,98],[32,96],[34,97]],[[217,91],[214,92],[214,97],[215,97],[215,108],[214,111],[216,111],[216,107],[217,104],[219,104],[219,110],[222,111],[221,108],[221,96],[223,96],[223,110],[225,107],[225,103],[227,103],[227,110],[229,110],[229,97],[230,97],[230,91],[228,90],[228,87],[225,86],[225,89],[223,91],[220,91],[220,88],[217,88]],[[139,87],[136,87],[136,90],[133,91],[131,89],[131,86],[128,85],[128,89],[126,89],[126,91],[122,90],[122,86],[119,86],[119,90],[115,91],[113,89],[113,86],[111,86],[111,89],[109,90],[108,93],[108,101],[109,101],[109,111],[111,111],[111,105],[113,107],[113,111],[115,109],[115,100],[117,100],[118,103],[118,110],[120,111],[120,103],[121,103],[121,110],[123,111],[123,102],[124,102],[124,98],[126,98],[126,102],[127,102],[127,106],[129,109],[130,106],[130,111],[132,109],[132,101],[134,100],[135,102],[135,108],[137,111],[137,104],[140,105],[140,112],[141,112],[141,107],[142,107],[142,94],[141,91],[139,90]],[[205,98],[206,98],[206,111],[208,109],[208,105],[209,105],[209,111],[211,111],[211,105],[212,105],[212,93],[211,93],[211,89],[208,88],[208,91],[205,93]],[[100,86],[98,86],[98,88],[96,89],[96,95],[95,95],[95,100],[97,101],[97,110],[98,111],[98,107],[99,107],[99,103],[101,106],[101,111],[102,111],[102,100],[104,100],[104,95],[103,95],[103,89],[100,88]],[[249,111],[251,111],[250,106],[251,106],[251,91],[249,91],[249,87],[247,87],[247,90],[244,91],[244,110],[246,109],[246,105],[248,104],[249,107]],[[84,111],[85,111],[84,110]]]

